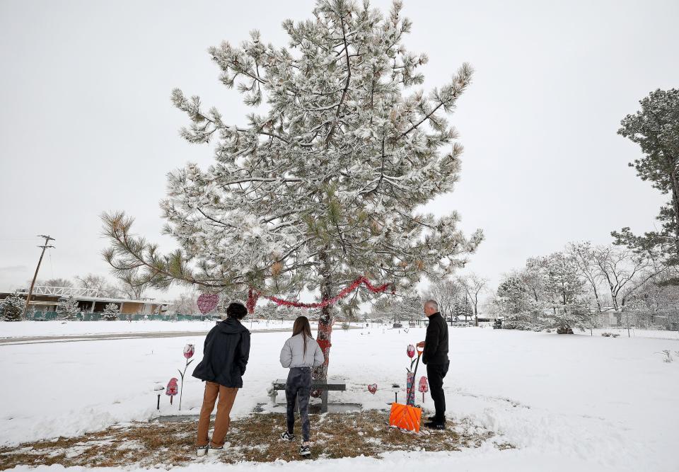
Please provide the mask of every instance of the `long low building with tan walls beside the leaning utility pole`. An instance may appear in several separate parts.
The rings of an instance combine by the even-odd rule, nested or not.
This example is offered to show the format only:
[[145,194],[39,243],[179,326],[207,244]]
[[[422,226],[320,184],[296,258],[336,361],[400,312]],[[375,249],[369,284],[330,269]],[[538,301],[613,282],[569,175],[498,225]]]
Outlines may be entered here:
[[[18,290],[17,292],[0,292],[0,300],[17,294],[24,299],[28,295],[28,290]],[[124,315],[162,315],[168,311],[168,301],[156,299],[117,299],[108,297],[98,297],[98,289],[83,289],[78,287],[33,287],[33,294],[30,296],[29,308],[35,311],[57,311],[59,301],[73,297],[78,301],[78,308],[83,313],[101,313],[106,305],[116,304],[120,313]]]

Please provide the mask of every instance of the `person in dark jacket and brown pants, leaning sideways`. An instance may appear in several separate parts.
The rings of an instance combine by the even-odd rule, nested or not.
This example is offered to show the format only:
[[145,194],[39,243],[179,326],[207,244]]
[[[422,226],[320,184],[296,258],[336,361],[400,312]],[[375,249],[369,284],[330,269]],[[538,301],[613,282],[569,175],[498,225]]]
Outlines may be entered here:
[[209,449],[224,449],[224,437],[228,432],[228,418],[236,400],[238,388],[243,387],[243,374],[250,357],[250,331],[240,323],[248,314],[241,303],[231,303],[226,309],[227,318],[210,330],[205,338],[203,359],[193,371],[193,376],[205,381],[203,406],[198,420],[196,453],[204,456],[208,451],[207,432],[210,415],[217,402],[214,432]]

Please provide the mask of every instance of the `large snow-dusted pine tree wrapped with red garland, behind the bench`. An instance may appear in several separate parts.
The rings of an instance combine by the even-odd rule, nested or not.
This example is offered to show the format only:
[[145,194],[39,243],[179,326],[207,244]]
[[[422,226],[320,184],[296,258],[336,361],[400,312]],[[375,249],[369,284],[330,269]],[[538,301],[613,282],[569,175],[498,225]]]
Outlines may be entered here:
[[[211,47],[224,85],[260,108],[229,124],[199,97],[173,91],[191,120],[182,136],[216,142],[216,161],[169,175],[161,206],[178,251],[162,255],[134,237],[124,213],[103,215],[117,275],[327,299],[359,276],[403,289],[463,264],[481,231],[465,238],[456,212],[419,208],[458,180],[463,148],[446,115],[472,69],[463,64],[429,93],[415,89],[427,57],[403,45],[411,23],[400,9],[396,1],[383,16],[367,1],[319,0],[310,20],[284,21],[289,47],[257,31],[238,47]],[[318,329],[326,359],[331,330],[328,306]],[[315,372],[326,375],[327,364]]]

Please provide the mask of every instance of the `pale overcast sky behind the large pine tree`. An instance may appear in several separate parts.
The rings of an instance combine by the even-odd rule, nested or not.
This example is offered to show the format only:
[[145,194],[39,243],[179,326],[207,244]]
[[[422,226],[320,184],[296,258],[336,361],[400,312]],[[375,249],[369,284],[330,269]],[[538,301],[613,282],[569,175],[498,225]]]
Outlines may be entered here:
[[[170,91],[243,123],[207,47],[252,29],[287,45],[282,21],[313,4],[1,0],[0,289],[32,277],[37,234],[56,238],[40,278],[107,274],[104,210],[126,210],[139,234],[173,248],[159,236],[165,174],[208,166],[212,152],[178,137],[187,119]],[[451,117],[460,182],[431,204],[484,230],[470,270],[497,284],[567,241],[653,227],[663,196],[627,167],[639,148],[616,131],[651,90],[679,86],[679,1],[405,0],[404,11],[405,45],[429,55],[425,89],[462,62],[476,70]]]

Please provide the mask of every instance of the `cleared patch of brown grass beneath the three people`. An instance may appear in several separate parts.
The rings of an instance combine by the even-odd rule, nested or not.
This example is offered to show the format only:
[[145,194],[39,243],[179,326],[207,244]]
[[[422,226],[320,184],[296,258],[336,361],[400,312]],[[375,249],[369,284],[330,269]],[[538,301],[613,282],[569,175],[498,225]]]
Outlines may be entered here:
[[[479,447],[494,434],[463,420],[449,423],[445,431],[404,432],[387,425],[388,412],[327,413],[311,416],[314,458],[379,457],[388,451],[459,451]],[[80,437],[37,441],[0,448],[0,469],[18,465],[39,466],[180,466],[192,461],[296,461],[298,441],[279,439],[285,415],[255,413],[231,422],[225,451],[217,459],[195,455],[197,422],[134,422]],[[300,434],[299,422],[296,424]],[[499,449],[513,449],[503,442]]]

